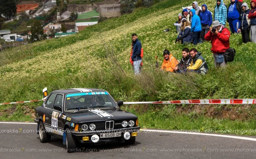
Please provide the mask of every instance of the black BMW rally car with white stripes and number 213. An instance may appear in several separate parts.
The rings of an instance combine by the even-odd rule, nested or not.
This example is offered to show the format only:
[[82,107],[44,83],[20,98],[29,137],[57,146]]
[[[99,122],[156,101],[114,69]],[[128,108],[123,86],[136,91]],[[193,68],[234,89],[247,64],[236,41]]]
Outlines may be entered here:
[[43,105],[36,108],[40,142],[51,136],[63,139],[71,152],[79,143],[135,143],[138,117],[119,107],[110,94],[101,89],[62,89],[52,91]]

